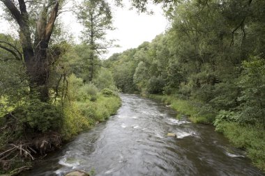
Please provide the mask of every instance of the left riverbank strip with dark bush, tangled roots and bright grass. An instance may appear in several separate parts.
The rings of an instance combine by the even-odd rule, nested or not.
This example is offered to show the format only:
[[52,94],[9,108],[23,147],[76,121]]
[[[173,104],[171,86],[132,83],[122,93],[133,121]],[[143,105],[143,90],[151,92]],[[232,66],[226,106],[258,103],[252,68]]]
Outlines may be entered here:
[[0,175],[28,170],[33,157],[59,148],[62,142],[107,120],[121,106],[119,96],[109,89],[74,95],[63,108],[60,103],[34,102],[34,106],[17,106],[10,115],[0,116]]

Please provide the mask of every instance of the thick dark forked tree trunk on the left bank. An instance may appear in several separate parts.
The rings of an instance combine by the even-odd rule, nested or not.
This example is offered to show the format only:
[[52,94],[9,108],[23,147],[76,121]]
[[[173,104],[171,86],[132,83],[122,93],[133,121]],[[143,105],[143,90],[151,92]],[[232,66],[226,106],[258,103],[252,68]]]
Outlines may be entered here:
[[[49,87],[47,84],[50,73],[49,63],[52,59],[49,58],[47,49],[54,28],[54,22],[59,11],[59,1],[50,0],[48,5],[43,4],[43,9],[40,11],[36,26],[34,45],[31,42],[30,22],[26,2],[24,0],[18,0],[19,8],[17,8],[14,1],[0,1],[8,8],[10,14],[20,26],[20,42],[24,62],[27,67],[27,74],[29,75],[31,93],[36,93],[40,101],[47,102],[49,99]],[[52,5],[54,5],[52,9],[49,9]]]

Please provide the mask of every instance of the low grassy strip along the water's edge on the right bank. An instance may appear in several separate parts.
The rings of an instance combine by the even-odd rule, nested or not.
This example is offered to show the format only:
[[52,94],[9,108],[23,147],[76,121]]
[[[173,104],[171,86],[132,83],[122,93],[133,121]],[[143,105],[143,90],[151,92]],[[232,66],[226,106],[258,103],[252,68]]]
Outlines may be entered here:
[[[173,95],[149,95],[151,99],[168,104],[181,115],[188,115],[190,121],[202,124],[215,125],[215,131],[225,135],[235,146],[244,149],[254,166],[265,172],[265,130],[262,126],[240,125],[236,122],[215,120],[216,112],[213,113],[199,109],[199,102],[179,99]],[[222,117],[218,117],[220,119]]]

